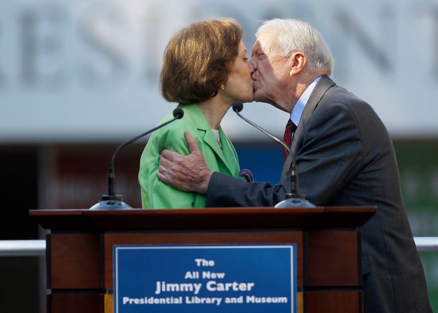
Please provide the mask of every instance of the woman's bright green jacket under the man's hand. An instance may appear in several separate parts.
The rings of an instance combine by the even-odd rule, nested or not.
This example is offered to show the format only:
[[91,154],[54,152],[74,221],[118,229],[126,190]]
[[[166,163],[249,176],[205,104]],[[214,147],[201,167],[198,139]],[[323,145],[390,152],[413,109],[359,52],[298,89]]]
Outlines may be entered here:
[[[222,128],[219,126],[221,150],[201,109],[196,104],[178,107],[184,111],[183,118],[155,130],[143,151],[138,181],[142,189],[142,206],[144,208],[205,207],[205,195],[178,190],[161,182],[156,175],[160,164],[159,155],[163,149],[169,149],[183,155],[190,154],[190,149],[184,138],[186,130],[189,130],[195,138],[204,155],[205,162],[212,171],[242,178],[239,176],[236,150]],[[169,114],[159,124],[171,118],[173,115]]]

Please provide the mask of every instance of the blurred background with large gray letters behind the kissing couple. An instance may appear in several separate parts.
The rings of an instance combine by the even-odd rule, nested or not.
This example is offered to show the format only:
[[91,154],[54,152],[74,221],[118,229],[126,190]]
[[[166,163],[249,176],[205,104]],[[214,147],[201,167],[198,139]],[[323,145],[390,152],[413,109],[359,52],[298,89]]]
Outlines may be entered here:
[[[44,239],[29,209],[89,208],[107,193],[110,158],[175,108],[158,75],[171,35],[233,17],[250,57],[267,18],[299,18],[326,38],[333,80],[367,101],[392,136],[414,236],[438,236],[437,0],[0,0],[1,239]],[[282,137],[288,116],[246,104],[242,114]],[[233,111],[222,127],[241,168],[276,184],[282,151]],[[147,138],[115,162],[117,193],[141,207]],[[421,253],[438,311],[438,255]],[[0,258],[5,313],[45,312],[44,258]]]

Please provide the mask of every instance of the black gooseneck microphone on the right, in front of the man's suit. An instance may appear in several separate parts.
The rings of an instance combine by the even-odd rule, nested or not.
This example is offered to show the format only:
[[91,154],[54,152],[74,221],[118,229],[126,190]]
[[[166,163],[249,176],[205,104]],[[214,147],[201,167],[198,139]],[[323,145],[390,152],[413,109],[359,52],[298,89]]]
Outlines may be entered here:
[[285,207],[286,208],[286,207],[297,207],[297,206],[301,206],[301,207],[315,206],[314,204],[312,204],[306,200],[304,194],[298,193],[298,173],[296,172],[295,158],[293,157],[293,153],[292,153],[291,149],[282,140],[278,139],[277,137],[275,137],[273,134],[271,134],[267,130],[262,129],[260,126],[256,125],[252,121],[250,121],[247,118],[240,115],[239,112],[242,109],[243,109],[243,103],[241,101],[234,101],[233,102],[233,110],[236,112],[236,114],[241,119],[243,119],[245,122],[251,124],[256,129],[260,130],[265,135],[269,136],[271,139],[273,139],[274,141],[276,141],[277,143],[282,145],[286,149],[288,155],[290,155],[292,158],[291,168],[289,168],[288,172],[287,172],[287,175],[291,176],[291,192],[289,192],[285,195],[285,200],[280,201],[279,203],[275,204],[274,207]]

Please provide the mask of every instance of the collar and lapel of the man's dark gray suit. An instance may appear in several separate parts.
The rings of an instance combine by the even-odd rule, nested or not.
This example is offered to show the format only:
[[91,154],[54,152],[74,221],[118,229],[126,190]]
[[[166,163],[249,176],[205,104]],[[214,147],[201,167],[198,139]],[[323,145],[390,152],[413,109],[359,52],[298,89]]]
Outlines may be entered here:
[[[303,114],[301,115],[300,122],[298,123],[298,127],[295,130],[295,133],[292,137],[292,145],[291,151],[294,156],[296,156],[296,146],[297,143],[303,136],[303,129],[306,125],[306,122],[309,120],[310,115],[312,115],[313,110],[315,110],[316,106],[319,103],[319,100],[323,97],[323,95],[329,90],[331,86],[335,85],[335,83],[329,78],[327,75],[323,75],[320,80],[316,83],[315,88],[310,94],[309,100],[306,103],[306,107],[303,110]],[[280,183],[286,176],[286,171],[291,168],[292,158],[288,156],[286,161],[284,162],[283,170],[281,172]]]

